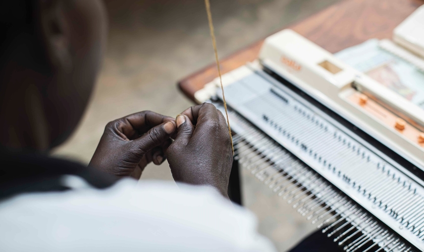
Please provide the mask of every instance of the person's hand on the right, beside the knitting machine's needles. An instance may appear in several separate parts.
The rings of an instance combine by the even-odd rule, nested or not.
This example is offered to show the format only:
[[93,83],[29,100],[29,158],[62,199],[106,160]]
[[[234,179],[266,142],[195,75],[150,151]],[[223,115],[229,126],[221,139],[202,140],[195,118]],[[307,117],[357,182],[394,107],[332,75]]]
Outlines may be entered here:
[[228,198],[233,155],[223,114],[203,103],[176,119],[178,133],[167,156],[175,181],[216,187]]

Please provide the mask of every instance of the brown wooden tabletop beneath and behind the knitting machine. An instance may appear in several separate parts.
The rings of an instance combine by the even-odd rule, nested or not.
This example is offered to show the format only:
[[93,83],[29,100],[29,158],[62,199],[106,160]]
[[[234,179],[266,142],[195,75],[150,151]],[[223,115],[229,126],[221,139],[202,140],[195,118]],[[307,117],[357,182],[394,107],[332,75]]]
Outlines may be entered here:
[[[320,45],[338,52],[370,38],[391,38],[393,29],[424,0],[345,0],[287,28]],[[257,58],[263,40],[221,60],[222,73]],[[194,93],[218,77],[215,64],[178,83],[181,91],[194,101]]]

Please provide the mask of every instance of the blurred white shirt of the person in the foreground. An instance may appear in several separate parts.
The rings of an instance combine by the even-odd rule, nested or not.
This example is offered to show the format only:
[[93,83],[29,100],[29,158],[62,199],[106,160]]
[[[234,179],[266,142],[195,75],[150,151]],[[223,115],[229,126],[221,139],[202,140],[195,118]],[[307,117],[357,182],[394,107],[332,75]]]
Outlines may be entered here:
[[0,202],[0,250],[275,251],[256,219],[204,186],[125,179]]

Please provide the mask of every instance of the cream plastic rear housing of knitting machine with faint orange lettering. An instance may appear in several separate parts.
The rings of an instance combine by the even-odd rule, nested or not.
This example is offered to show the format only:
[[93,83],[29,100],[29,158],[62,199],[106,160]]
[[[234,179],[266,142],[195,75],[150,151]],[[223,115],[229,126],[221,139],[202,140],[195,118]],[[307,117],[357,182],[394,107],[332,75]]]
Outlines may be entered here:
[[[424,149],[421,146],[402,136],[394,127],[381,123],[375,116],[363,111],[359,104],[349,102],[345,96],[346,92],[352,91],[352,84],[355,84],[358,89],[372,93],[417,124],[424,125],[424,111],[418,106],[289,29],[265,40],[259,60],[263,66],[292,82],[421,169],[424,167]],[[329,71],[322,67],[323,62],[336,70]]]

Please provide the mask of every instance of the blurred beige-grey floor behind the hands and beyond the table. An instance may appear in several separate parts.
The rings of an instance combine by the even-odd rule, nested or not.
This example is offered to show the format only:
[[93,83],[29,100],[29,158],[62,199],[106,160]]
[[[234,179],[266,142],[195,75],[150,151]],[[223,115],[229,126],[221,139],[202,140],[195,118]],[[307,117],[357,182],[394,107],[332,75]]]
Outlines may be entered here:
[[[220,58],[340,0],[211,0]],[[105,0],[108,50],[91,103],[78,130],[54,154],[88,164],[111,120],[142,110],[175,117],[193,103],[178,80],[213,64],[203,0]],[[168,163],[150,165],[142,179],[172,180]],[[259,219],[259,232],[279,251],[312,226],[268,188],[243,172],[243,203]]]

